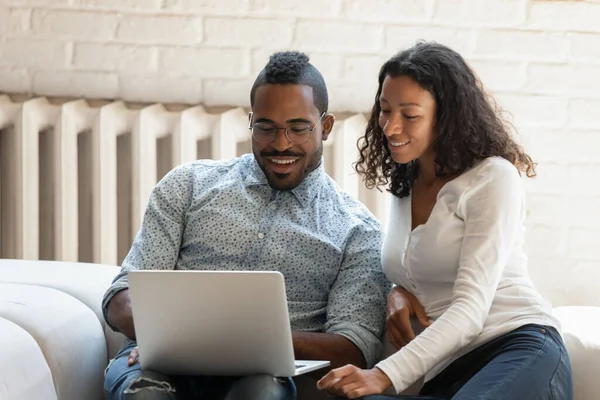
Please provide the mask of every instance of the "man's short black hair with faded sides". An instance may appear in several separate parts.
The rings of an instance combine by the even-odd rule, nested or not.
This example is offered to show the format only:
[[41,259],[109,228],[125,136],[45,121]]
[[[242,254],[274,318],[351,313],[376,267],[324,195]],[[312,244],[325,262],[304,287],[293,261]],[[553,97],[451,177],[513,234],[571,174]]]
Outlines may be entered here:
[[269,62],[254,81],[250,91],[250,104],[254,106],[256,90],[263,85],[306,85],[313,90],[315,106],[319,113],[327,112],[329,96],[325,80],[309,60],[306,54],[298,51],[282,51],[271,55]]

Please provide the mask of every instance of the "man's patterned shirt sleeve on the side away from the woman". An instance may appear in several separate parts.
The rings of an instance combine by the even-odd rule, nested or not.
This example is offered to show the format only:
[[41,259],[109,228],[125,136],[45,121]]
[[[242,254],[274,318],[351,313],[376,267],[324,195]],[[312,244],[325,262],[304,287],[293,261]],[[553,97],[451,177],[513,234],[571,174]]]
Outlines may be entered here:
[[127,289],[129,271],[175,269],[189,204],[190,182],[189,166],[182,165],[167,173],[152,190],[142,226],[121,264],[121,272],[102,299],[104,320],[113,330],[116,328],[108,321],[107,305],[115,294]]

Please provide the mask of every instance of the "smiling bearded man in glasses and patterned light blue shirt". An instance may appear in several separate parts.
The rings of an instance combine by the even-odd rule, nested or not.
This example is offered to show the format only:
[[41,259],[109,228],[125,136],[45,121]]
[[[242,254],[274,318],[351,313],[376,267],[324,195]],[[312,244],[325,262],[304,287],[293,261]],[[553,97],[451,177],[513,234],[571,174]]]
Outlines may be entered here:
[[324,172],[323,141],[334,117],[323,77],[306,55],[276,53],[250,100],[253,155],[179,166],[150,196],[103,300],[107,323],[130,339],[107,368],[107,399],[295,398],[291,379],[142,371],[127,290],[127,272],[135,269],[280,271],[297,359],[366,367],[379,355],[390,289],[380,264],[382,233]]

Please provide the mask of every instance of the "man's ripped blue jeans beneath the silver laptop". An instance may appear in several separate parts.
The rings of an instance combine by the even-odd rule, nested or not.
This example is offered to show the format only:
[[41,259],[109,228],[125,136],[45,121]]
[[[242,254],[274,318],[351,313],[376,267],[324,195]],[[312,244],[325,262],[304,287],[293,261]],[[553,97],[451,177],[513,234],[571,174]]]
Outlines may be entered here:
[[106,400],[296,400],[296,386],[291,378],[164,376],[143,371],[138,362],[127,364],[135,346],[135,342],[126,341],[106,368]]

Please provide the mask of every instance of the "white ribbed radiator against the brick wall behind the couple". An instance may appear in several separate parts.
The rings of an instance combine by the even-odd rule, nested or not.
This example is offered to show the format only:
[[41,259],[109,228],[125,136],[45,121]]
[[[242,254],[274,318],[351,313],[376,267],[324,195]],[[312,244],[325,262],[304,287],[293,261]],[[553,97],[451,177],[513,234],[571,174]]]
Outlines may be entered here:
[[[0,95],[0,258],[119,264],[166,172],[250,151],[247,115]],[[338,119],[326,170],[385,225],[389,196],[352,169],[365,126],[360,114]]]

